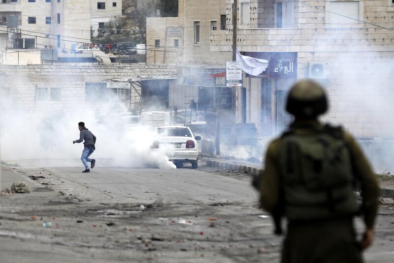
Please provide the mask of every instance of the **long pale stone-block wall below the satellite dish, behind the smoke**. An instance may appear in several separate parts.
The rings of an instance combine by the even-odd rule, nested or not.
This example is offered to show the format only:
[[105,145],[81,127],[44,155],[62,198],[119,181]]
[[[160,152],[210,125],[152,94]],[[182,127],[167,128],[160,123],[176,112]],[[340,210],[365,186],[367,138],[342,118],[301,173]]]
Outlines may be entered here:
[[[85,102],[85,83],[105,83],[111,79],[131,79],[136,76],[168,76],[176,74],[174,64],[133,64],[133,65],[1,65],[2,88],[9,90],[9,96],[24,110],[74,109],[88,104],[99,109],[103,103]],[[61,88],[60,101],[36,101],[36,88]],[[133,91],[132,91],[133,92]]]

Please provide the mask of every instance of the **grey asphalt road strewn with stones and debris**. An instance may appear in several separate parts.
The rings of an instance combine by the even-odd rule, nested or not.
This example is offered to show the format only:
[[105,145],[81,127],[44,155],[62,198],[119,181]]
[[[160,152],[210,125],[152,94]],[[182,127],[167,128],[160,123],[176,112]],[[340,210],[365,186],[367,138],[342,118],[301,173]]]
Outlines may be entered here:
[[[272,234],[269,217],[259,217],[266,214],[248,175],[105,162],[82,174],[78,160],[17,163],[3,188],[25,180],[32,193],[0,198],[2,263],[279,262],[282,237]],[[393,262],[392,208],[381,208],[366,262]],[[43,228],[45,221],[53,226]]]

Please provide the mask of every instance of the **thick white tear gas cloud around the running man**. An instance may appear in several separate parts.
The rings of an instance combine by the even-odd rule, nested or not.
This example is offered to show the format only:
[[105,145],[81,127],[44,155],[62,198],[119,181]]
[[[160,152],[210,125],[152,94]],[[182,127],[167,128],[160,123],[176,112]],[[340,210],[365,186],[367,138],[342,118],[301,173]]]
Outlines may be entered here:
[[[79,158],[82,143],[73,145],[72,141],[79,139],[78,122],[84,121],[97,137],[92,158],[98,159],[98,165],[103,160],[113,166],[175,168],[166,157],[165,148],[151,149],[152,129],[130,127],[116,115],[98,118],[97,111],[83,106],[63,109],[56,114],[51,110],[28,113],[14,109],[5,97],[1,98],[1,106],[1,158],[5,161]],[[110,107],[100,109],[100,113],[110,112]],[[76,164],[70,161],[69,166]]]

